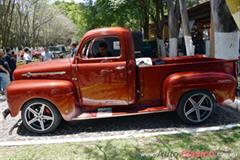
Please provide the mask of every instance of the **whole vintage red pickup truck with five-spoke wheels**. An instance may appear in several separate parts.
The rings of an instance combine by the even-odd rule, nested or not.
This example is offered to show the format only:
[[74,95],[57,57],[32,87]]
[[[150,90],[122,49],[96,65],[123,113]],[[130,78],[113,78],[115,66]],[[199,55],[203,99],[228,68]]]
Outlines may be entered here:
[[[101,43],[111,56],[96,57]],[[42,134],[55,130],[62,119],[166,111],[199,124],[210,118],[216,104],[234,101],[236,77],[236,60],[136,60],[128,29],[95,29],[84,35],[74,58],[18,67],[7,88],[4,116],[21,111],[24,126]]]

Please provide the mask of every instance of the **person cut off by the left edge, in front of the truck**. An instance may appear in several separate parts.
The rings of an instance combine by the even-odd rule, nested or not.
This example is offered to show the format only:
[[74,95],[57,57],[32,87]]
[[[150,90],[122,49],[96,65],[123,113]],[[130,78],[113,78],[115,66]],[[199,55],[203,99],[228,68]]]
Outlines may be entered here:
[[4,52],[0,51],[0,79],[1,79],[1,94],[5,93],[5,90],[10,83],[9,72],[7,66],[4,63]]

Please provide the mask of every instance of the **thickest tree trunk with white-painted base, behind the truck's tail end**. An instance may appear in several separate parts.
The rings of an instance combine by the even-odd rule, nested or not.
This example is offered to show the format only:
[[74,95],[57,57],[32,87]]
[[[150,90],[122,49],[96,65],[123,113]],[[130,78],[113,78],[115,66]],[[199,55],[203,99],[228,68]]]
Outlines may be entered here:
[[214,57],[237,59],[239,55],[239,33],[237,25],[225,0],[211,0],[214,27]]

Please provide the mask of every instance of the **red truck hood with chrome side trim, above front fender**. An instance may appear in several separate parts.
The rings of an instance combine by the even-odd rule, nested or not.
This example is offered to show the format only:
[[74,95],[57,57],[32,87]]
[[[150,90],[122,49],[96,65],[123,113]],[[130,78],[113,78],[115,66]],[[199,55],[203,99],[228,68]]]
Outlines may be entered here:
[[72,58],[57,59],[46,62],[33,62],[17,67],[14,80],[19,79],[68,79],[71,74]]

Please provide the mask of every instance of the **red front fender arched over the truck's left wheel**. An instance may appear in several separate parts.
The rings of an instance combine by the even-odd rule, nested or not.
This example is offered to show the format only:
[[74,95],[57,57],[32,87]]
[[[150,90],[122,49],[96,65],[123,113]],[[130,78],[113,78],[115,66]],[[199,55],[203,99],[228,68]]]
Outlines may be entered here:
[[31,99],[45,99],[56,106],[65,120],[79,113],[77,92],[66,80],[17,80],[7,87],[7,102],[15,117]]

